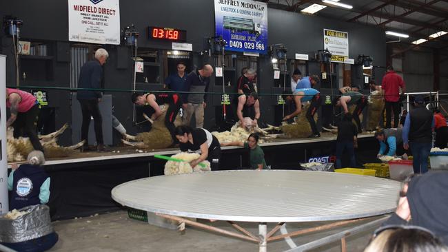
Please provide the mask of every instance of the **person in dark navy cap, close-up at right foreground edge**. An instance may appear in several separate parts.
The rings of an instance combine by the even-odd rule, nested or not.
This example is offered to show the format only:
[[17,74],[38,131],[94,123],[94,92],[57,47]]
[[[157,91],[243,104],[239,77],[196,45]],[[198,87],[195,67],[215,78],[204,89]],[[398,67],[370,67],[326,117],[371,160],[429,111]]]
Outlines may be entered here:
[[448,171],[430,171],[410,176],[400,191],[395,213],[383,223],[384,227],[403,224],[429,229],[448,244]]

